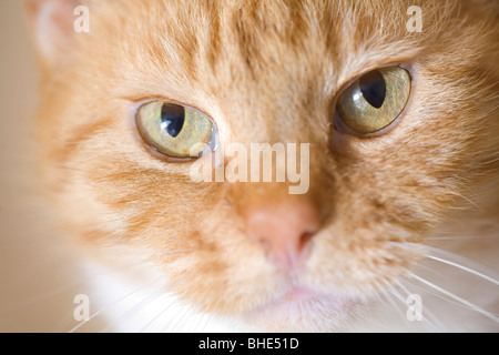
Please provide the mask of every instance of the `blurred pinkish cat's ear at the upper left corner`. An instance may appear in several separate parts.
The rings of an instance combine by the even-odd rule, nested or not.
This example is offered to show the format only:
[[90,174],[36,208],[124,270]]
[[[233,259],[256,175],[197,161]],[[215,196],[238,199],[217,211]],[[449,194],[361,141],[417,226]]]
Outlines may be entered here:
[[[43,64],[54,68],[72,50],[81,0],[24,0]],[[77,14],[75,14],[77,13]]]

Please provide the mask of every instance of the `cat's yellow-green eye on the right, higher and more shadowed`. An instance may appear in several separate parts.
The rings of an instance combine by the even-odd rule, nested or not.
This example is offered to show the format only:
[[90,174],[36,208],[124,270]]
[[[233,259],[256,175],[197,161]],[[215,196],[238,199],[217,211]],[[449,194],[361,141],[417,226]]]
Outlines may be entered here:
[[354,81],[338,98],[337,112],[344,124],[358,134],[390,125],[409,100],[411,80],[399,67],[376,69]]

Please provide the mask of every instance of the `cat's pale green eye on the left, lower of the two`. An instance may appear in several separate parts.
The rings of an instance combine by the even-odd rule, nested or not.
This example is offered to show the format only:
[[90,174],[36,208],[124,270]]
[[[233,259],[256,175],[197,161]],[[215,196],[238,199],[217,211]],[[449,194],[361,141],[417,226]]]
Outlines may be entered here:
[[213,122],[187,106],[152,101],[143,104],[135,116],[145,143],[171,158],[198,158],[211,148]]

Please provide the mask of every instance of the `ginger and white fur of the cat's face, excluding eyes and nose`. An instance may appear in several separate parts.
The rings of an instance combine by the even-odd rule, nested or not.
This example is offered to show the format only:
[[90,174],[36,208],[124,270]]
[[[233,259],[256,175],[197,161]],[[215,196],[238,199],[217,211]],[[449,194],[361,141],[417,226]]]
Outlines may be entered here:
[[[72,29],[80,3],[89,33]],[[497,226],[495,0],[28,4],[44,68],[40,161],[61,219],[108,262],[114,246],[131,264],[134,252],[146,255],[193,310],[258,329],[346,329],[358,302],[420,260],[408,243],[426,244],[456,207],[472,210],[468,201],[487,194],[483,219]],[[420,33],[406,29],[413,4],[422,9]],[[399,123],[368,139],[337,132],[339,90],[389,64],[414,79]],[[352,306],[252,316],[289,275],[245,235],[244,216],[255,204],[288,203],[287,184],[193,183],[189,163],[161,161],[138,140],[134,109],[151,98],[206,112],[225,143],[310,143],[310,190],[294,199],[319,206],[320,231],[293,282]]]

